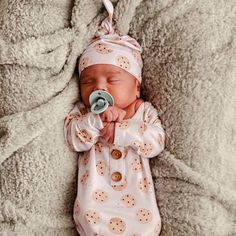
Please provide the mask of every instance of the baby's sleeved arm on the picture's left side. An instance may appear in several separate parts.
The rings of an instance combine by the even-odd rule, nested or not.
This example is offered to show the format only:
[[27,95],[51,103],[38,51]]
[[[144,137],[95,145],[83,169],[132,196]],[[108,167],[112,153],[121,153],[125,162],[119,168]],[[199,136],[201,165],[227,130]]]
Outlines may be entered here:
[[103,127],[99,115],[85,113],[84,105],[76,104],[65,120],[66,143],[73,151],[87,151],[97,142]]

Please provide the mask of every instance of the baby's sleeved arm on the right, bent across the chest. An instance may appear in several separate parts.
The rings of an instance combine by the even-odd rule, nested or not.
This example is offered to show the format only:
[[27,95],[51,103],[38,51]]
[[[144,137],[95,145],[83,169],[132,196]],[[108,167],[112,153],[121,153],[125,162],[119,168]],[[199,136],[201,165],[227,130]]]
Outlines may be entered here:
[[154,157],[164,149],[165,133],[157,110],[148,102],[144,106],[143,122],[124,120],[116,123],[114,143],[130,146],[143,157]]

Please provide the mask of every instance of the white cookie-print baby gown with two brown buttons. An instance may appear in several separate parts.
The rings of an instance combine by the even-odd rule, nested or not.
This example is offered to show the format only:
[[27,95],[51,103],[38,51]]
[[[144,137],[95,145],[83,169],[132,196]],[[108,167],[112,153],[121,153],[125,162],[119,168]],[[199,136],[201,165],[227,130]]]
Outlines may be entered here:
[[114,144],[99,132],[99,115],[77,103],[65,121],[68,146],[80,153],[74,220],[81,236],[158,236],[161,219],[149,158],[164,149],[165,134],[149,102],[116,123]]

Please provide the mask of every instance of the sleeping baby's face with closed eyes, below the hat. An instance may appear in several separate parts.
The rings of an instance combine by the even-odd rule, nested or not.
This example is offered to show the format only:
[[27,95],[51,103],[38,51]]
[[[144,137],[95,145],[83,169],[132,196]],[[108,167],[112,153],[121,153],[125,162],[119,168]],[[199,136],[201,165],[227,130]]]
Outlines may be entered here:
[[107,64],[92,65],[80,75],[80,91],[83,103],[89,107],[89,95],[95,90],[109,92],[115,105],[126,108],[140,96],[140,83],[125,70]]

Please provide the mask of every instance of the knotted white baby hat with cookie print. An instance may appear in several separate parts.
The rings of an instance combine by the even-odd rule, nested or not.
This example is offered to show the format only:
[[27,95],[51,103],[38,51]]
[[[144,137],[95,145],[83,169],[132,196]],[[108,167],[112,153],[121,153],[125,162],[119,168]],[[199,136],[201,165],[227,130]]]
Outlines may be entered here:
[[110,0],[103,0],[103,4],[109,15],[99,27],[98,37],[82,53],[79,59],[79,75],[91,65],[111,64],[129,72],[141,83],[141,46],[134,38],[128,35],[120,36],[115,32],[112,25],[113,5]]

